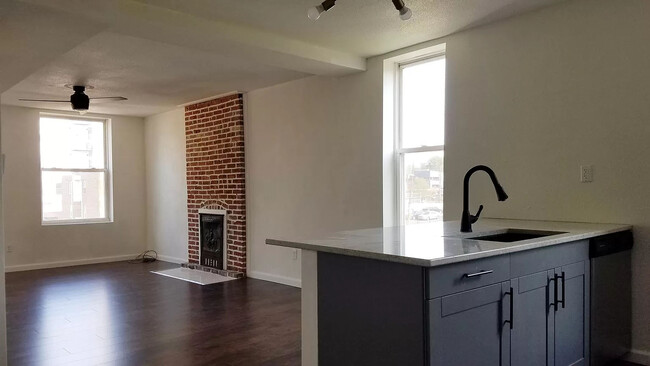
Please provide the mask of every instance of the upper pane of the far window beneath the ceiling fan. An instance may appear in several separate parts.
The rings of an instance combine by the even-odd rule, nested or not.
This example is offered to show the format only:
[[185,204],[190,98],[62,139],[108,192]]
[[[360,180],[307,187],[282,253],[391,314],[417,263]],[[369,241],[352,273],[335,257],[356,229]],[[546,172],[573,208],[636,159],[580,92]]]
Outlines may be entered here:
[[104,123],[41,117],[41,167],[104,169]]

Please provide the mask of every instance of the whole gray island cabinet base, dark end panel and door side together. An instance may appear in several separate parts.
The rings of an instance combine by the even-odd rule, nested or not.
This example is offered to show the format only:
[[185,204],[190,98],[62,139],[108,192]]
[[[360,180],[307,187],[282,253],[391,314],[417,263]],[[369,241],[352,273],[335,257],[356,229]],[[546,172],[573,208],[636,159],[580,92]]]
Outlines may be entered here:
[[319,364],[587,366],[588,249],[434,268],[319,253]]

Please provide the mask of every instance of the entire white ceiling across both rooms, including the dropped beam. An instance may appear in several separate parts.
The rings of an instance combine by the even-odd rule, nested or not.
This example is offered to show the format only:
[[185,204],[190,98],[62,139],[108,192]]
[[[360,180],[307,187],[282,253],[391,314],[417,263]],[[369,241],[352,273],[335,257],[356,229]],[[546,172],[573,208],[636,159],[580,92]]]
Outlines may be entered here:
[[363,71],[366,57],[563,0],[405,1],[406,22],[390,0],[338,0],[313,22],[306,12],[318,0],[4,0],[0,86],[13,86],[2,103],[69,110],[18,99],[66,99],[63,85],[87,83],[90,97],[129,98],[91,104],[92,112],[146,116],[229,91]]

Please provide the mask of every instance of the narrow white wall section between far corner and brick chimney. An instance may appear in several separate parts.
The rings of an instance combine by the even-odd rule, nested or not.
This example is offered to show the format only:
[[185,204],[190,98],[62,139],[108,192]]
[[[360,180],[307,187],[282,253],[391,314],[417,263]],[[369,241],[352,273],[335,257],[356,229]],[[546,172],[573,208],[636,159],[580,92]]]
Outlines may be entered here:
[[187,262],[187,181],[183,108],[145,118],[147,248]]

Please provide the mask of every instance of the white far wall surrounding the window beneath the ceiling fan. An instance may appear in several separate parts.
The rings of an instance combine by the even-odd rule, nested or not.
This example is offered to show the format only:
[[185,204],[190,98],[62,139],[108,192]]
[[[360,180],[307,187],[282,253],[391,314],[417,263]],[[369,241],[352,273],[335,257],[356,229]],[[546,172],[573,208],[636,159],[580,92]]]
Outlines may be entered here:
[[129,259],[145,249],[144,122],[111,119],[114,222],[42,226],[39,110],[2,106],[7,270]]

